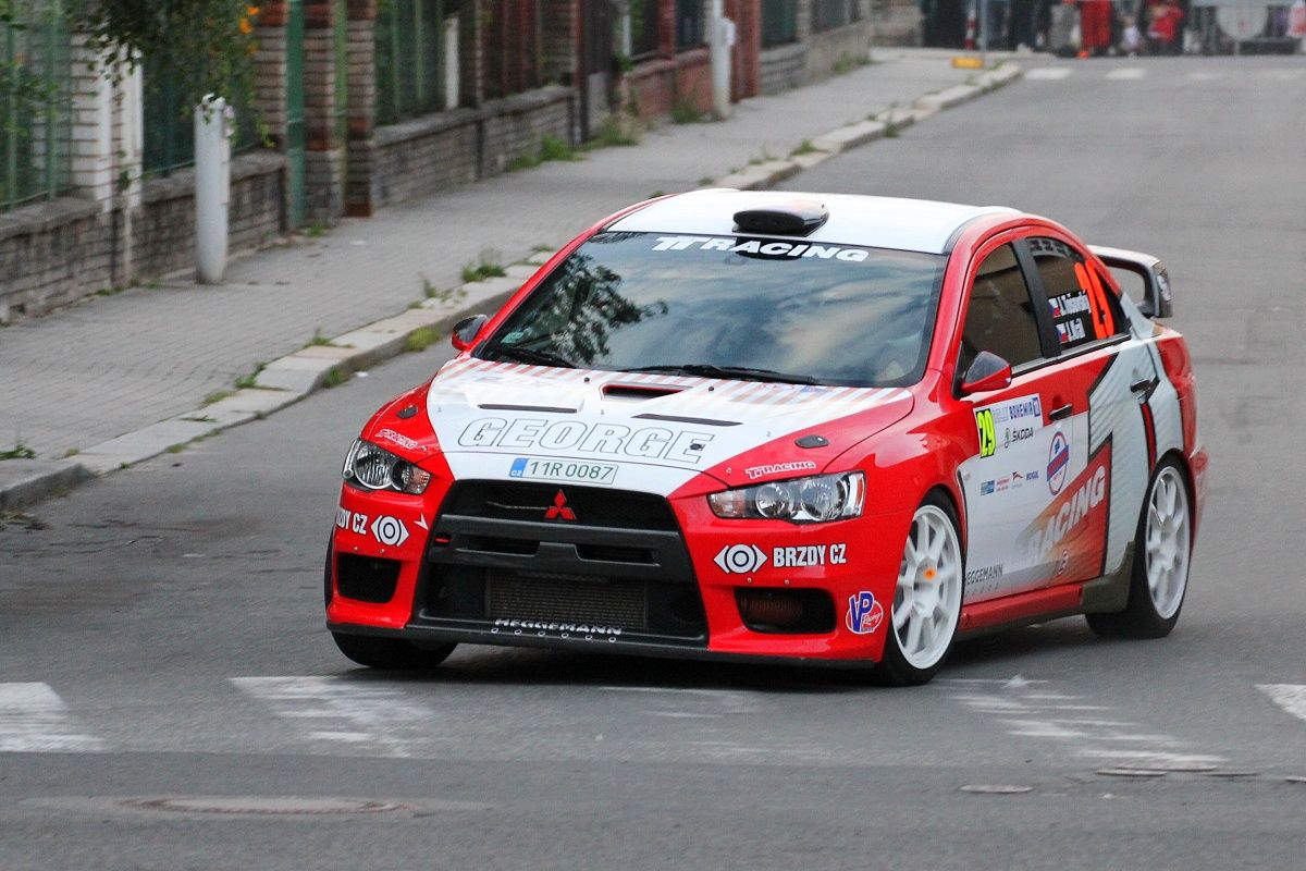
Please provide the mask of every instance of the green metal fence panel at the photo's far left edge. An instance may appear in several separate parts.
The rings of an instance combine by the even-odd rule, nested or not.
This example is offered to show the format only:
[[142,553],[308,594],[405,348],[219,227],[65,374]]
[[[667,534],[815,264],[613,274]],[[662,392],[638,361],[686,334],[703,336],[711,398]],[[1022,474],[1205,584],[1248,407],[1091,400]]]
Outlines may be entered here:
[[59,0],[18,4],[0,22],[0,212],[68,189],[72,73]]

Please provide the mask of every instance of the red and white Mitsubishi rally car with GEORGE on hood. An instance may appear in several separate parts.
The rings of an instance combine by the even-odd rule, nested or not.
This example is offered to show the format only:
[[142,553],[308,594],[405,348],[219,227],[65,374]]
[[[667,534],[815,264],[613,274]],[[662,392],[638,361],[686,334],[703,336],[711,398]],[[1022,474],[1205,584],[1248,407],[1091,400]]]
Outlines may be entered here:
[[1011,209],[632,206],[363,428],[328,626],[376,667],[466,641],[900,684],[1054,616],[1166,635],[1207,469],[1169,309],[1155,257]]

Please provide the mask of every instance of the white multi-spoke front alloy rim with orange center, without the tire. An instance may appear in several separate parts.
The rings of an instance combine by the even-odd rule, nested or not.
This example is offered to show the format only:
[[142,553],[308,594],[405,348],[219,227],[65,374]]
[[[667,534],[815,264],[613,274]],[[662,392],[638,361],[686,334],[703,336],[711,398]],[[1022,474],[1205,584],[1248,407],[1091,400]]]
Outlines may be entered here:
[[921,505],[902,547],[891,611],[899,650],[913,669],[932,669],[948,653],[961,616],[963,580],[952,518],[936,505]]

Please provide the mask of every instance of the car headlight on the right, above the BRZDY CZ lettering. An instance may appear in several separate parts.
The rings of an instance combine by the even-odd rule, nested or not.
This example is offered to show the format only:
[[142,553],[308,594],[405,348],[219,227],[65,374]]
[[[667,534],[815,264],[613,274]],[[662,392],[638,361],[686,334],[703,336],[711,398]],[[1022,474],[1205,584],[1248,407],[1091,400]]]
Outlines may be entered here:
[[861,517],[865,500],[866,475],[861,471],[769,481],[708,496],[712,513],[717,517],[788,520],[795,524]]

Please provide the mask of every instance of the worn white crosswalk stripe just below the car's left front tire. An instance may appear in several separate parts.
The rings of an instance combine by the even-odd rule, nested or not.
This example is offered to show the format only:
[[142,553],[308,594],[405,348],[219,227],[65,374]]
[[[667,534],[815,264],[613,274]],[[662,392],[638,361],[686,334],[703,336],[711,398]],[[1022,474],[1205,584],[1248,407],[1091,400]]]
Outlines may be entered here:
[[[308,738],[342,747],[366,746],[384,756],[413,756],[418,739],[439,721],[404,689],[333,676],[231,678],[240,691],[268,703],[278,717],[308,721]],[[316,722],[312,722],[316,721]]]

